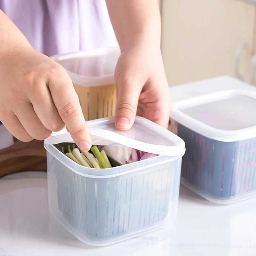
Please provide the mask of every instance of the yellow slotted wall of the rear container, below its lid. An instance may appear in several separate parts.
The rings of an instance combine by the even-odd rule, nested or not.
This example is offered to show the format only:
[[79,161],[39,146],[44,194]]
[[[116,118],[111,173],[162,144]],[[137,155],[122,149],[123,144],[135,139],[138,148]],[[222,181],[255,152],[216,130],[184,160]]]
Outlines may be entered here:
[[92,87],[73,85],[86,121],[115,116],[116,84]]

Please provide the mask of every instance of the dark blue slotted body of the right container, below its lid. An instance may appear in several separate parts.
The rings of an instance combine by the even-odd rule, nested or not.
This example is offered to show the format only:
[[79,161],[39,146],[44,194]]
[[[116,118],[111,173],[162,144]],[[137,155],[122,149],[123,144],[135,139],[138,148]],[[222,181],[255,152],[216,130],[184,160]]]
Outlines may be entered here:
[[246,198],[246,195],[256,192],[256,139],[237,142],[212,140],[174,120],[171,130],[186,144],[182,180],[205,196],[220,200],[237,196]]

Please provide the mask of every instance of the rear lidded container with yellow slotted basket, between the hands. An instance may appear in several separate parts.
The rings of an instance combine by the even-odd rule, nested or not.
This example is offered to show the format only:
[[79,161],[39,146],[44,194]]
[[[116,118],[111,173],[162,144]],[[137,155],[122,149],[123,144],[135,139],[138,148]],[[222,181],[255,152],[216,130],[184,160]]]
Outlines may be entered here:
[[115,115],[119,56],[119,48],[101,48],[51,57],[71,77],[86,121]]

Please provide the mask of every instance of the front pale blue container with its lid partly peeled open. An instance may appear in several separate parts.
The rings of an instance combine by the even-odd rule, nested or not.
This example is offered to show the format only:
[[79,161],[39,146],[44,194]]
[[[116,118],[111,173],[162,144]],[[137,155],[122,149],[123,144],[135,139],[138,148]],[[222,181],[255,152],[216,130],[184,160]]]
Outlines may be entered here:
[[114,244],[172,224],[177,216],[185,143],[142,117],[130,131],[114,117],[87,122],[93,145],[130,147],[157,154],[109,169],[76,164],[52,144],[73,143],[63,130],[44,141],[50,212],[85,244]]

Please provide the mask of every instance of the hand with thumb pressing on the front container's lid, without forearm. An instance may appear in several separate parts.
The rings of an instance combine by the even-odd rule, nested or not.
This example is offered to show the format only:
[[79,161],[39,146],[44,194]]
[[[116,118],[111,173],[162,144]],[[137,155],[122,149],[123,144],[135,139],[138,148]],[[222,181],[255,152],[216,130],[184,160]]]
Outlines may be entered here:
[[136,115],[168,127],[171,100],[160,48],[137,44],[124,50],[115,79],[117,129],[130,129]]

